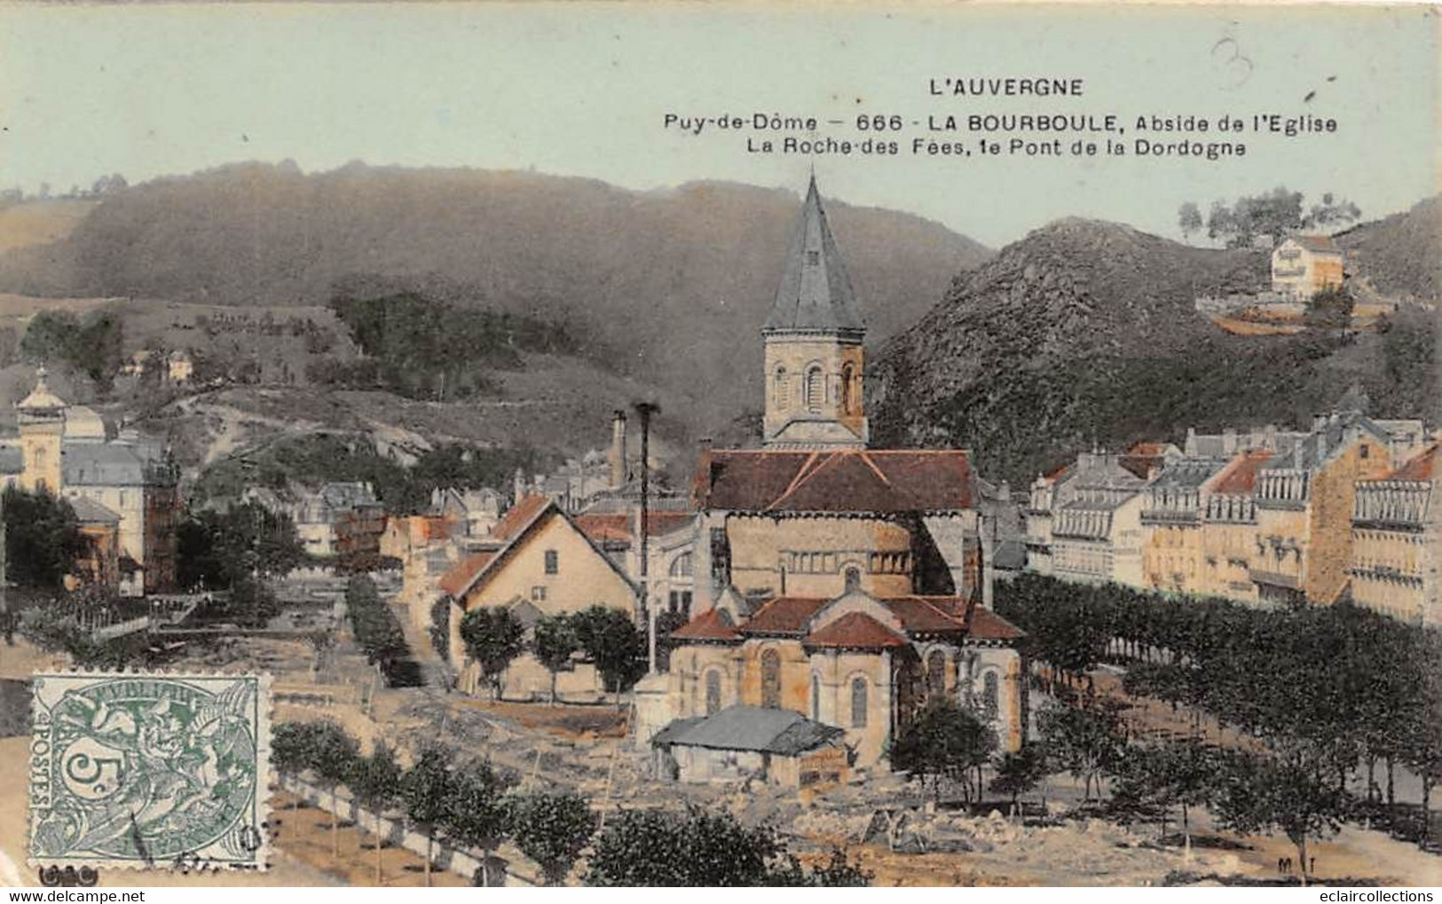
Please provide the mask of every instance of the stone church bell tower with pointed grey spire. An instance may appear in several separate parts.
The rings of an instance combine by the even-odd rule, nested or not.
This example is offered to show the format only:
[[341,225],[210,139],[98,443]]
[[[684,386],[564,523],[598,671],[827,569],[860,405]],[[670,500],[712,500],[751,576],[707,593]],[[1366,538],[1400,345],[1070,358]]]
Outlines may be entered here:
[[786,249],[766,342],[767,448],[865,448],[867,326],[812,176]]

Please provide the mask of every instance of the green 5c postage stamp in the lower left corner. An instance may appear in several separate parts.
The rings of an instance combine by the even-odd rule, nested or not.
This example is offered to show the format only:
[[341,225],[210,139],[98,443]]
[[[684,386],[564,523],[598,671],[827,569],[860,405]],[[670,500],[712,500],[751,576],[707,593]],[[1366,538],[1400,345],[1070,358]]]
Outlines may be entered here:
[[30,862],[264,869],[260,675],[35,675]]

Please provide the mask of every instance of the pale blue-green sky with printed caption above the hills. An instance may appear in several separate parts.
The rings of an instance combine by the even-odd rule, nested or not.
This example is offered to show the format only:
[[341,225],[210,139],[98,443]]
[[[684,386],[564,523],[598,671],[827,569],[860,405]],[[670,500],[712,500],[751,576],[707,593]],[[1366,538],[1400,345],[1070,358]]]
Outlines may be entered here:
[[[1439,190],[1438,49],[1438,16],[1419,6],[6,4],[0,186],[290,159],[803,190],[815,166],[829,196],[989,245],[1069,215],[1174,235],[1184,200],[1278,185],[1373,218]],[[1080,78],[1084,95],[933,97],[947,76]],[[854,141],[868,137],[858,114],[908,125],[897,156],[756,154],[747,137],[774,136],[689,136],[668,112],[838,118],[822,134]],[[911,123],[973,112],[1112,112],[1128,146],[1151,114],[1311,114],[1338,131],[1213,125],[1195,137],[1247,146],[1216,161],[908,153],[933,137]]]

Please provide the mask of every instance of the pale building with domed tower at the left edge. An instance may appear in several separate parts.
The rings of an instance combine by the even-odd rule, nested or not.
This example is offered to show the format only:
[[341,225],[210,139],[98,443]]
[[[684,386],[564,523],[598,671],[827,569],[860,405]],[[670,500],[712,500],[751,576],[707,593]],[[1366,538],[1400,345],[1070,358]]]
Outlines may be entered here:
[[[134,431],[111,435],[84,405],[69,405],[46,384],[16,405],[19,441],[0,444],[4,483],[46,492],[74,506],[88,500],[91,528],[114,515],[117,588],[123,595],[166,593],[176,581],[176,528],[180,519],[179,467],[156,441]],[[98,506],[98,508],[97,508]],[[104,580],[110,572],[102,568]]]

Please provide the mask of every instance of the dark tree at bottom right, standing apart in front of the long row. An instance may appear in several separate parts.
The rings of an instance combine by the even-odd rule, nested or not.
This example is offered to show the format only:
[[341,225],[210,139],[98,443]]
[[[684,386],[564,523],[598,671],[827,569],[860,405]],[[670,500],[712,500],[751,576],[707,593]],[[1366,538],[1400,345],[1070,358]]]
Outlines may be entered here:
[[1217,799],[1218,822],[1244,835],[1280,830],[1296,846],[1306,884],[1306,842],[1337,833],[1347,815],[1347,794],[1324,781],[1317,764],[1280,761],[1266,754],[1234,754]]

